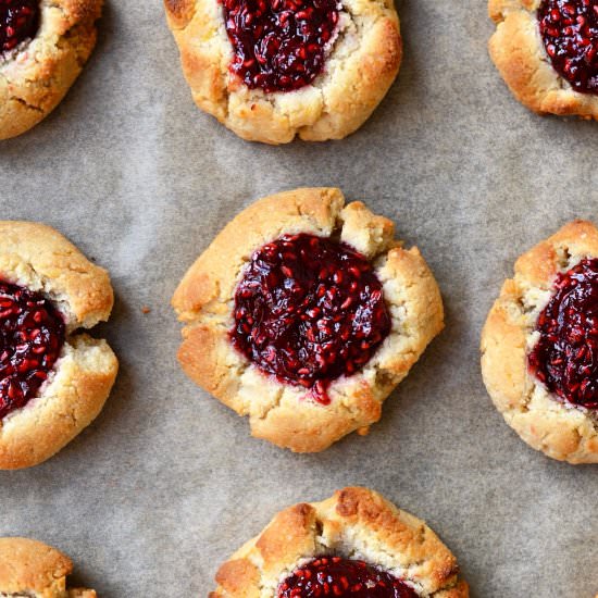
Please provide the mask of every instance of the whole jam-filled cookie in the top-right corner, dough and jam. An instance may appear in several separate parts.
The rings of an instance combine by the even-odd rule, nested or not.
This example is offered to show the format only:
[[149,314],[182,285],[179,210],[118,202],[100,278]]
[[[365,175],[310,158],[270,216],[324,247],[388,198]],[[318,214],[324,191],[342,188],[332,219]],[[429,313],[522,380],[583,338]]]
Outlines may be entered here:
[[539,114],[598,119],[598,14],[584,0],[489,0],[489,52],[515,98]]

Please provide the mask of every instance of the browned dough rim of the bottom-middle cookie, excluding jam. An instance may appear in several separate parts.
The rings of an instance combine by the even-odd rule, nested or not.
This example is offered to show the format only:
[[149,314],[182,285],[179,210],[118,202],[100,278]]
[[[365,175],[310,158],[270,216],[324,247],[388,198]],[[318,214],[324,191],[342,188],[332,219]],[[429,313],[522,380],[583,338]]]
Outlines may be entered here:
[[469,596],[456,558],[423,521],[373,490],[350,487],[279,512],[220,568],[210,598],[272,598],[301,562],[326,555],[381,566],[422,597]]

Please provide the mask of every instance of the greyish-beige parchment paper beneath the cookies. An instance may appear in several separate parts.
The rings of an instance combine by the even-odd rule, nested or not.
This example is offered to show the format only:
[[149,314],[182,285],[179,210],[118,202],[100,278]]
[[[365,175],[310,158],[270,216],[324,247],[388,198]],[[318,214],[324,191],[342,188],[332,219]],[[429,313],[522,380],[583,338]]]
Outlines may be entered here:
[[[597,125],[514,101],[486,52],[484,0],[398,9],[399,78],[342,141],[241,141],[195,108],[161,2],[108,0],[65,101],[0,145],[1,217],[53,225],[109,269],[116,306],[95,334],[121,360],[90,428],[40,466],[0,473],[0,534],[59,547],[102,598],[205,596],[276,511],[348,484],[425,519],[474,597],[598,591],[596,468],[524,445],[478,366],[481,326],[515,258],[569,220],[598,221]],[[252,439],[183,375],[169,301],[235,213],[308,185],[395,220],[440,284],[447,328],[367,437],[297,456]]]

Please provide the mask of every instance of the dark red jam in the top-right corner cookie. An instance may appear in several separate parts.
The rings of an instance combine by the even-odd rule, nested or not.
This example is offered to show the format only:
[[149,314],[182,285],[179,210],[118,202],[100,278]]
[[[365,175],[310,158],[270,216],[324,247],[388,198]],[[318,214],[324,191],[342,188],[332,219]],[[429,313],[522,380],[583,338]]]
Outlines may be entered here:
[[544,0],[540,35],[555,70],[573,89],[598,92],[598,0]]

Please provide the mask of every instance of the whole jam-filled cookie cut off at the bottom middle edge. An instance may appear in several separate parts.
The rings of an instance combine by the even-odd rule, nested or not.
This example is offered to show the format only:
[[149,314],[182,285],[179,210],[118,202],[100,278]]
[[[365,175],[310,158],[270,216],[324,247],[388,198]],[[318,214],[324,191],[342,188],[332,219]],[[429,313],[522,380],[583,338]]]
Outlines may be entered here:
[[469,596],[456,558],[423,521],[359,487],[279,512],[216,583],[210,598]]

